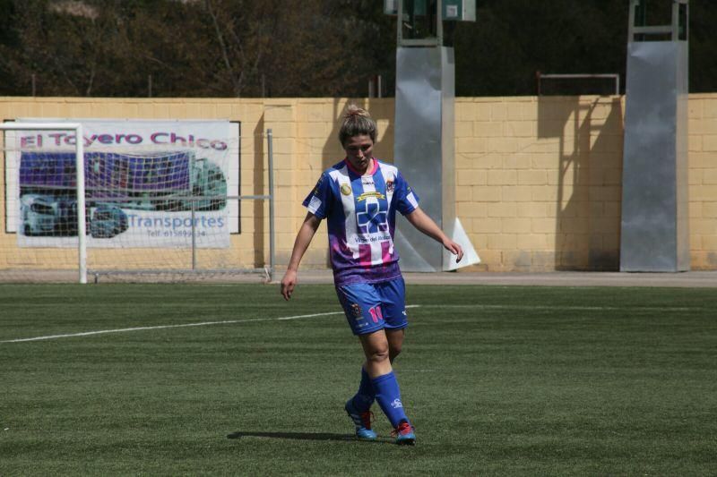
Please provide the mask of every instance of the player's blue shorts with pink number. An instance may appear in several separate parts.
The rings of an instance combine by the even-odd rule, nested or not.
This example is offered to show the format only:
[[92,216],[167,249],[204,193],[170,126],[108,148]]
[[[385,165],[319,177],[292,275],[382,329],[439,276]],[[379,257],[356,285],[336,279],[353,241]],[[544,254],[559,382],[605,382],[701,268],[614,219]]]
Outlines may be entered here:
[[402,277],[381,283],[339,285],[336,294],[354,335],[409,326]]

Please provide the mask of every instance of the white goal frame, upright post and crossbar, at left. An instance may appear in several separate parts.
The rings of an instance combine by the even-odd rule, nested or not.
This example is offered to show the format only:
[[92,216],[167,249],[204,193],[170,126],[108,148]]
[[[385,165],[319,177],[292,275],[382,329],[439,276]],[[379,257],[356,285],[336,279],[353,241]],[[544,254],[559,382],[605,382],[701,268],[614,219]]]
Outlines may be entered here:
[[87,283],[87,221],[84,200],[84,142],[80,123],[22,123],[0,124],[0,131],[73,131],[74,166],[77,182],[77,251],[80,268],[80,283]]

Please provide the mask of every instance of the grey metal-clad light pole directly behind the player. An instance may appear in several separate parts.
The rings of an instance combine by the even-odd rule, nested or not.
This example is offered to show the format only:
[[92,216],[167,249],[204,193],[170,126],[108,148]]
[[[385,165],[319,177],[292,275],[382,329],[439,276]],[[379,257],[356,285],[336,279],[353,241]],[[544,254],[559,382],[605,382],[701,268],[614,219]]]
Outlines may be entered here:
[[396,222],[394,243],[404,271],[454,270],[479,262],[455,206],[455,61],[444,46],[443,21],[475,21],[476,0],[384,0],[396,16],[393,165],[421,191],[421,209],[456,242],[460,264],[440,244]]

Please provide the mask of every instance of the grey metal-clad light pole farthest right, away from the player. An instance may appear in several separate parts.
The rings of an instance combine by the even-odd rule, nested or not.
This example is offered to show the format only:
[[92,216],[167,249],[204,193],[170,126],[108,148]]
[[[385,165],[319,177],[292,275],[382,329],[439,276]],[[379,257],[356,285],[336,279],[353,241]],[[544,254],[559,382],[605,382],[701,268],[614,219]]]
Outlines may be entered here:
[[689,0],[671,0],[671,7],[669,24],[645,25],[645,0],[630,1],[620,214],[622,272],[690,269]]

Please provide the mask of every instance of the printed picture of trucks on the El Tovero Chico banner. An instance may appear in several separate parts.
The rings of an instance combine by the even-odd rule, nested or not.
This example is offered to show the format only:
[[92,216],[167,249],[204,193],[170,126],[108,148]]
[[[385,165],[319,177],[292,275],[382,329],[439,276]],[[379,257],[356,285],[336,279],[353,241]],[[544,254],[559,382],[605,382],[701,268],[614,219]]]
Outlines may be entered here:
[[[84,175],[87,231],[96,238],[125,232],[123,209],[222,210],[227,204],[227,180],[221,168],[206,158],[195,158],[191,150],[86,152]],[[76,178],[73,153],[22,152],[22,234],[77,234]]]

